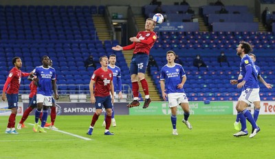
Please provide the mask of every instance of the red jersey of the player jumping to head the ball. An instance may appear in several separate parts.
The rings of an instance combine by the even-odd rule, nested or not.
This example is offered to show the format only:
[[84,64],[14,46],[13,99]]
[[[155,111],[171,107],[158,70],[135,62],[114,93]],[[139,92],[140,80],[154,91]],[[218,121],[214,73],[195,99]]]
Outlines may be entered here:
[[136,43],[135,50],[133,50],[133,54],[137,54],[138,52],[149,54],[151,48],[153,47],[155,41],[157,40],[157,35],[155,34],[155,32],[146,32],[146,31],[138,32],[136,37],[137,39],[140,39],[140,40],[147,40],[149,38],[152,38],[153,43],[149,43],[149,44]]

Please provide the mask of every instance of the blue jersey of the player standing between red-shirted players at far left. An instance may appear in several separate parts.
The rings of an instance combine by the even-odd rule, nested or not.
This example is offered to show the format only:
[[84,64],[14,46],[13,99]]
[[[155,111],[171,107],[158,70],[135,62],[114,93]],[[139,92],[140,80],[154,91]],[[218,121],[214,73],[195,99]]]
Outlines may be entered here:
[[37,94],[52,96],[52,80],[56,79],[56,70],[53,67],[44,68],[42,65],[34,69],[39,78]]

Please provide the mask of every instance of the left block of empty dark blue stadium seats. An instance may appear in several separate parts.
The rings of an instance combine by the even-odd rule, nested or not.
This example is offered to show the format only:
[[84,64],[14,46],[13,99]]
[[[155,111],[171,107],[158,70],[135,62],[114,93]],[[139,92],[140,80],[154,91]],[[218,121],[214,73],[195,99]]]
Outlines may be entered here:
[[[89,92],[89,87],[84,86],[89,84],[94,72],[93,68],[89,67],[87,72],[84,67],[89,54],[98,61],[100,56],[115,53],[117,65],[129,72],[125,59],[121,58],[122,52],[111,50],[112,41],[98,40],[91,14],[97,14],[96,6],[1,6],[1,84],[5,83],[14,56],[22,58],[25,72],[41,65],[41,56],[50,56],[61,94]],[[104,14],[104,6],[98,6],[98,14]],[[129,85],[127,78],[129,76],[124,76],[122,83]],[[28,83],[22,79],[21,84],[26,86],[21,91],[29,90]]]

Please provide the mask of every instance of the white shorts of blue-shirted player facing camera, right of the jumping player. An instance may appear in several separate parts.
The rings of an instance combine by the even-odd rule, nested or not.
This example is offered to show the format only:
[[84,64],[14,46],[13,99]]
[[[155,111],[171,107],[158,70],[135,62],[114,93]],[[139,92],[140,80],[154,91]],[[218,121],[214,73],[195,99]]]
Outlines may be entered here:
[[169,107],[177,107],[180,103],[188,103],[188,98],[185,93],[168,94]]

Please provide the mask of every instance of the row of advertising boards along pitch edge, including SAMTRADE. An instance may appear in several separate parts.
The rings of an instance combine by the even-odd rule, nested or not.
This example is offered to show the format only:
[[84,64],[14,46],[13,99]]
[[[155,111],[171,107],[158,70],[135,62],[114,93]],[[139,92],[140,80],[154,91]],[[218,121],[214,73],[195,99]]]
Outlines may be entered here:
[[[152,102],[146,109],[140,107],[126,107],[128,103],[115,103],[115,114],[117,115],[169,115],[170,108],[167,102]],[[140,102],[143,105],[143,102]],[[236,101],[190,101],[190,114],[193,115],[222,115],[222,114],[236,114]],[[28,103],[19,103],[19,116],[22,116],[23,110],[27,109]],[[91,115],[94,114],[96,108],[94,104],[62,102],[56,103],[58,115]],[[254,113],[254,105],[250,105],[249,109]],[[178,106],[177,114],[184,114],[182,109]],[[105,110],[103,109],[103,112]],[[275,101],[266,100],[261,102],[260,114],[275,114]],[[0,103],[0,116],[9,116],[10,109],[8,103]],[[34,115],[34,111],[31,115]]]

